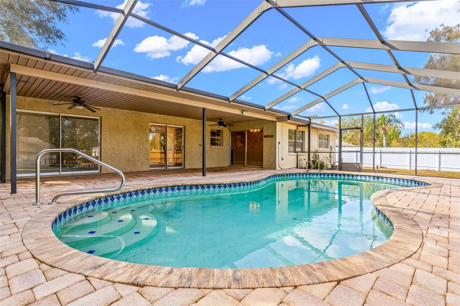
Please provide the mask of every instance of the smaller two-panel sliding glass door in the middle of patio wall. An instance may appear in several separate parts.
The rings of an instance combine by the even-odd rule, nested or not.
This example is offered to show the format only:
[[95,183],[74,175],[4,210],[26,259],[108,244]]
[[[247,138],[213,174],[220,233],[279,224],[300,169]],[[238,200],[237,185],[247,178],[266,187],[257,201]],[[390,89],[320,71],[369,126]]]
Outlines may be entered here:
[[184,167],[184,127],[150,124],[150,170]]

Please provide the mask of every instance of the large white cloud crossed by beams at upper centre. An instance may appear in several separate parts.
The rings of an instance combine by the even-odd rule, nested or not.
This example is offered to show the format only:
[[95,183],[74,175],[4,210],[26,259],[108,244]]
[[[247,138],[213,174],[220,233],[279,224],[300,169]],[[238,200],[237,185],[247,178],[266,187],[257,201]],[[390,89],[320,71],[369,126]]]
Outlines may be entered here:
[[[200,40],[203,44],[210,45],[215,47],[225,38],[219,37],[212,42],[206,40]],[[209,50],[203,48],[199,45],[194,45],[190,51],[188,51],[185,56],[176,57],[176,62],[181,62],[184,65],[196,65],[199,63],[207,54]],[[231,56],[241,59],[242,61],[248,62],[253,65],[262,65],[265,62],[268,62],[273,56],[274,52],[270,51],[266,45],[254,45],[252,48],[239,47],[237,50],[228,52]],[[228,71],[236,68],[247,67],[239,62],[231,60],[230,58],[223,57],[219,55],[214,58],[212,62],[207,64],[203,68],[203,72],[214,72],[214,71]]]

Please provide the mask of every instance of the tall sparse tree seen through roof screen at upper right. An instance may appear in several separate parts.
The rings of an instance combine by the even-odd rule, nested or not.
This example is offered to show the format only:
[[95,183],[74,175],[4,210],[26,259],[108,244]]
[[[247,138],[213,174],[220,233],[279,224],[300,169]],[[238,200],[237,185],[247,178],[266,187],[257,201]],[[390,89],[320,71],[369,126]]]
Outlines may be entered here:
[[[440,28],[431,30],[427,41],[434,42],[460,42],[460,23],[455,26],[440,25]],[[431,53],[426,60],[423,68],[460,71],[460,55],[458,54],[440,54]],[[420,84],[449,87],[460,89],[460,81],[452,79],[437,79],[424,76],[414,76],[414,82]],[[451,96],[441,93],[427,92],[423,97],[423,103],[426,106],[443,106],[460,104],[460,96]],[[430,110],[432,113],[433,110]]]

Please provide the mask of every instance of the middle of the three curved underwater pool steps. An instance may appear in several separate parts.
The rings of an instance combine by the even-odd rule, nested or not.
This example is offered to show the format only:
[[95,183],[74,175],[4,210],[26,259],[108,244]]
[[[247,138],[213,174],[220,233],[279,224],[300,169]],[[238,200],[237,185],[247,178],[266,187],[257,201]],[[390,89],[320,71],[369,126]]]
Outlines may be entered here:
[[85,246],[107,241],[114,236],[129,231],[136,224],[135,218],[128,211],[124,210],[105,210],[110,221],[101,225],[90,228],[85,228],[78,231],[64,232],[60,239],[63,243],[75,249],[81,249]]

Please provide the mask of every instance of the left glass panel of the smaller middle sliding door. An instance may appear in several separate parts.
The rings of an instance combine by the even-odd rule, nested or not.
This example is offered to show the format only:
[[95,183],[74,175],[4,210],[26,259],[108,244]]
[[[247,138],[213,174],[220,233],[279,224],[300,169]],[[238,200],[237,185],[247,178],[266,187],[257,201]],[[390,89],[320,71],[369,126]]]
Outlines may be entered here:
[[149,164],[150,169],[166,168],[166,125],[150,124]]

